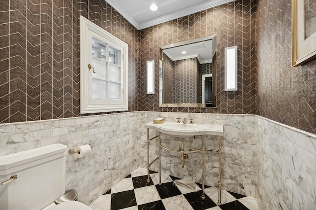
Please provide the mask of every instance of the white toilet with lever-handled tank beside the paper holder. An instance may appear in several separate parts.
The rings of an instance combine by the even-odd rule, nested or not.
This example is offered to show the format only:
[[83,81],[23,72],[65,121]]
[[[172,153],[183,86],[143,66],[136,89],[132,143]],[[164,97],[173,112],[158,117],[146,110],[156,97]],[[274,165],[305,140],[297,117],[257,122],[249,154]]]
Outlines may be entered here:
[[54,203],[65,193],[66,154],[56,143],[0,156],[1,210],[92,210],[78,201]]

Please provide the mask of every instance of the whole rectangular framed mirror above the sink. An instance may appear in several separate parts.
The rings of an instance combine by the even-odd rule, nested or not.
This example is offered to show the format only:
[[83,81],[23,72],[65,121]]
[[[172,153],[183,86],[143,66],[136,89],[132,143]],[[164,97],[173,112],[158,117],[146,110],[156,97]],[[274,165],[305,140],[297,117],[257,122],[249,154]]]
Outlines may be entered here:
[[216,35],[160,48],[159,106],[216,107]]

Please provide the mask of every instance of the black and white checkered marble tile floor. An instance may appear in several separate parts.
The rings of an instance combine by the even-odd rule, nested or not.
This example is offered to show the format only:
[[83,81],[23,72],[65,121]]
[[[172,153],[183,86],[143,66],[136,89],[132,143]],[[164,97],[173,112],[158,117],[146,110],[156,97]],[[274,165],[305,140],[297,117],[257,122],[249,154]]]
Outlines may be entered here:
[[147,183],[147,170],[136,169],[121,180],[90,207],[93,210],[259,210],[254,198],[222,190],[222,205],[217,206],[218,190],[205,185],[205,199],[201,199],[201,184],[181,179],[196,185],[196,191],[176,185],[179,178],[151,172]]

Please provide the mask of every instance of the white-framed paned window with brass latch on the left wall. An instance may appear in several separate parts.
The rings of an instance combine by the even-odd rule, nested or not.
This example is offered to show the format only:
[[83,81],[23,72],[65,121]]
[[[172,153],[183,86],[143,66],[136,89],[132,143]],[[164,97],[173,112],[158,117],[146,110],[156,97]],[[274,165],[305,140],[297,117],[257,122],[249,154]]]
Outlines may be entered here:
[[80,16],[80,110],[128,110],[128,45]]

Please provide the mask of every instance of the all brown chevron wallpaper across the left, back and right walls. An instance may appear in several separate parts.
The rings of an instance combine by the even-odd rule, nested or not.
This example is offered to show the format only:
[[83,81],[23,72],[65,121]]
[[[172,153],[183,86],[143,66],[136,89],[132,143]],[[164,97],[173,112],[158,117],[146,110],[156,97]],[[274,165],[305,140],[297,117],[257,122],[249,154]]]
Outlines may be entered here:
[[[291,0],[237,0],[142,31],[103,0],[2,0],[0,123],[80,116],[79,15],[129,44],[130,111],[257,113],[316,133],[316,60],[291,67]],[[159,107],[159,46],[213,34],[218,107]],[[224,48],[234,45],[238,91],[227,93]],[[146,95],[153,59],[157,89]]]

